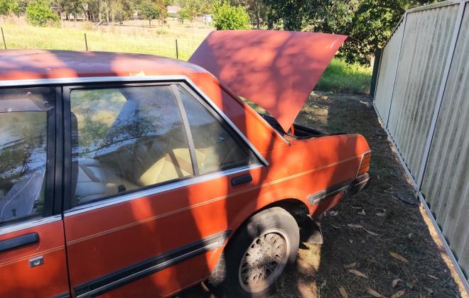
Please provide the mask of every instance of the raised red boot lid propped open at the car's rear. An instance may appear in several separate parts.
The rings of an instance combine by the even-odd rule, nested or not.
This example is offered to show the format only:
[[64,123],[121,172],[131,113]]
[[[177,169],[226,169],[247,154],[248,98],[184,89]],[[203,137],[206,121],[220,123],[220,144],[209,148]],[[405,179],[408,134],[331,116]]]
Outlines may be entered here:
[[345,35],[213,31],[189,62],[262,106],[288,131]]

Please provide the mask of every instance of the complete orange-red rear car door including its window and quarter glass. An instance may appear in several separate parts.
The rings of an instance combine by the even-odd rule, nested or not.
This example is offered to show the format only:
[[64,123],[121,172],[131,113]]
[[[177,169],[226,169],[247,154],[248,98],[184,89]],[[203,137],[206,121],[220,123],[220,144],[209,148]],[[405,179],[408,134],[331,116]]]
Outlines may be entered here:
[[73,294],[166,296],[199,282],[230,218],[257,192],[257,156],[184,82],[67,87],[64,96]]

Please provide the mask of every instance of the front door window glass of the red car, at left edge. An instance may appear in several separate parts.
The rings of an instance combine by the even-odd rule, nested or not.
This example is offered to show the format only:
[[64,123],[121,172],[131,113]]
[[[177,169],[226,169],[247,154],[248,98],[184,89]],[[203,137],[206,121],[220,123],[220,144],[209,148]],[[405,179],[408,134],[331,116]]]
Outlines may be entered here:
[[0,224],[42,215],[53,88],[0,89]]

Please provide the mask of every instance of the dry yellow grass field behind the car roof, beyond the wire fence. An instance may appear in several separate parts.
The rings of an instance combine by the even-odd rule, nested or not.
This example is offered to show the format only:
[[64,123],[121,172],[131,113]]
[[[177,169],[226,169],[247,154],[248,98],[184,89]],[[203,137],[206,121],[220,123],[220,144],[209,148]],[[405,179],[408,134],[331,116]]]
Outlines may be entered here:
[[149,26],[96,26],[91,23],[63,22],[60,28],[37,28],[4,23],[1,25],[4,49],[90,50],[141,53],[188,60],[212,29],[200,24],[178,22]]

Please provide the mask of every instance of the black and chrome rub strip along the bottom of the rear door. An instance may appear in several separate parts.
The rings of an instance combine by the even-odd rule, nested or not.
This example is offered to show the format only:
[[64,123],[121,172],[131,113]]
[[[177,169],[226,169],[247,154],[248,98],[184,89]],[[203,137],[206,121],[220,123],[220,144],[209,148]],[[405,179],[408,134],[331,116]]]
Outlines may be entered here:
[[222,231],[208,236],[199,241],[195,241],[188,245],[181,246],[166,253],[156,255],[153,258],[141,261],[139,263],[129,265],[121,270],[109,273],[95,280],[90,280],[82,285],[73,287],[77,298],[95,297],[112,291],[124,285],[134,282],[141,278],[147,277],[158,271],[181,263],[190,258],[214,250],[227,240],[231,231]]

